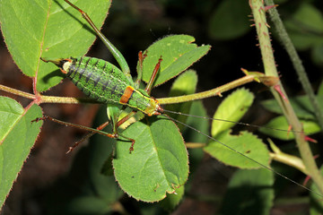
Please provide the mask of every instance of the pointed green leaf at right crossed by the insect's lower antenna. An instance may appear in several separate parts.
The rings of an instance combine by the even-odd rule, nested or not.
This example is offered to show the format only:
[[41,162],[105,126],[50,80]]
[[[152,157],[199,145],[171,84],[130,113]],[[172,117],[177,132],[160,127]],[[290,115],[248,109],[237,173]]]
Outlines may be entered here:
[[[210,142],[204,150],[227,165],[237,168],[261,168],[258,163],[265,166],[269,164],[269,151],[266,145],[252,133],[241,132],[239,135],[231,135],[227,131],[218,135],[217,141]],[[249,159],[243,157],[237,151],[249,157]]]

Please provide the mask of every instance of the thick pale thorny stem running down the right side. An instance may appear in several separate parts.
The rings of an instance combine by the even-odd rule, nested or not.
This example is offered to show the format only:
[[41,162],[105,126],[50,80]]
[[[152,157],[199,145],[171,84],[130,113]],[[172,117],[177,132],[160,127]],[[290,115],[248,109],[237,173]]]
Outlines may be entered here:
[[[266,23],[265,5],[263,4],[262,0],[249,0],[249,4],[255,20],[265,73],[269,76],[278,77],[273,55],[273,48],[271,47]],[[277,82],[275,87],[271,87],[271,91],[278,104],[283,109],[284,116],[286,117],[287,121],[290,125],[292,125],[292,129],[295,131],[302,131],[301,122],[295,115],[281,82]],[[308,172],[314,183],[319,187],[320,193],[323,193],[323,178],[319,174],[319,169],[310,150],[310,145],[305,141],[304,133],[294,133],[294,135],[300,150],[301,159],[306,167],[306,172]]]

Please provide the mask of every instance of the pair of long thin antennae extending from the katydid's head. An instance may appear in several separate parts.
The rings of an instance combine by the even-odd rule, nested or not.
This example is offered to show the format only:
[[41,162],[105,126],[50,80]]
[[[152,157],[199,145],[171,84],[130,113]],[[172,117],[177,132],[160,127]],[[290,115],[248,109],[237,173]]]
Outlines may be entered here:
[[[174,112],[174,111],[170,111],[170,110],[164,110],[164,111],[165,111],[165,112],[172,113],[172,114],[179,114],[179,115],[183,115],[183,116],[192,116],[192,115],[187,115],[187,114],[183,114],[183,113],[179,113],[179,112]],[[240,152],[240,151],[238,151],[238,150],[235,150],[235,149],[231,148],[229,145],[227,145],[227,144],[225,144],[225,143],[223,143],[223,142],[220,142],[220,141],[216,140],[214,137],[212,137],[212,136],[210,136],[210,135],[208,135],[208,134],[206,134],[206,133],[203,133],[203,132],[201,132],[201,131],[197,130],[195,127],[190,126],[190,125],[187,125],[187,124],[185,124],[185,123],[182,123],[182,122],[180,122],[179,120],[177,120],[177,119],[175,119],[175,118],[172,118],[172,117],[170,117],[170,116],[167,116],[166,114],[162,114],[162,115],[163,115],[163,116],[168,117],[170,120],[172,120],[172,121],[173,121],[173,122],[175,122],[175,123],[178,123],[178,124],[180,124],[180,125],[184,125],[184,126],[188,127],[189,129],[192,129],[192,130],[193,130],[193,131],[195,131],[196,133],[201,133],[202,135],[204,135],[205,137],[209,138],[210,140],[212,140],[212,141],[214,141],[214,142],[218,142],[218,143],[222,144],[222,145],[223,145],[224,147],[226,147],[227,149],[232,150],[232,151],[234,151],[234,152],[236,152],[236,153],[240,154],[242,157],[244,157],[244,158],[246,158],[246,159],[249,159],[249,160],[251,160],[251,161],[253,161],[253,162],[257,163],[260,167],[262,167],[262,168],[266,168],[268,171],[271,171],[271,172],[275,173],[277,176],[281,176],[281,177],[283,177],[284,179],[286,179],[286,180],[288,180],[288,181],[292,182],[292,184],[294,184],[294,185],[299,185],[299,186],[301,186],[302,188],[304,188],[305,190],[310,191],[310,192],[312,192],[312,193],[314,193],[314,194],[317,194],[319,197],[323,197],[323,195],[322,195],[321,193],[315,192],[315,191],[311,190],[310,188],[306,187],[305,185],[301,185],[301,184],[297,183],[296,181],[292,180],[291,178],[289,178],[289,177],[287,177],[287,176],[284,176],[283,174],[281,174],[281,173],[277,172],[274,168],[267,167],[266,165],[264,165],[264,164],[262,164],[262,163],[258,162],[258,160],[256,160],[256,159],[251,159],[251,158],[249,158],[247,155],[245,155],[245,154],[241,153],[241,152]],[[210,118],[210,117],[204,117],[204,116],[199,116],[199,117],[200,117],[200,118],[205,118],[205,119],[213,119],[213,118]],[[215,119],[215,120],[217,120],[217,119]],[[228,120],[221,120],[221,121],[228,121]],[[236,122],[232,122],[232,121],[228,121],[228,122],[229,122],[229,123],[236,123]],[[238,124],[240,124],[240,125],[248,125],[248,124],[244,124],[244,123],[238,123]],[[259,126],[259,125],[255,125],[255,126],[256,126],[256,127],[261,127],[261,126]],[[271,128],[269,128],[269,129],[271,129]],[[278,130],[281,130],[281,129],[278,129]],[[284,130],[284,131],[286,131],[286,130]]]

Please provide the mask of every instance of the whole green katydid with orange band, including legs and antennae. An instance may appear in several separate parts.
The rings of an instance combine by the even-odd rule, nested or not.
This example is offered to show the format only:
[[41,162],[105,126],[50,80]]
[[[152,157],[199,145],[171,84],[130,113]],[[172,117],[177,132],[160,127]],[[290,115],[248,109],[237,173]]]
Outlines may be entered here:
[[[92,133],[100,133],[103,135],[107,135],[111,138],[118,138],[119,136],[122,136],[132,142],[132,145],[129,149],[131,152],[134,150],[135,140],[131,139],[130,137],[125,137],[122,134],[119,134],[117,132],[118,126],[123,124],[125,121],[127,121],[128,118],[133,116],[136,111],[141,111],[147,116],[157,116],[157,115],[163,114],[164,111],[165,112],[167,111],[167,110],[164,110],[159,105],[158,99],[153,99],[149,95],[153,86],[154,77],[156,73],[158,73],[162,62],[162,56],[159,62],[156,62],[156,67],[154,69],[152,78],[150,82],[148,82],[145,90],[139,89],[139,82],[141,79],[141,73],[142,73],[141,69],[142,69],[142,62],[144,61],[144,55],[142,53],[139,53],[139,66],[138,66],[139,75],[138,75],[137,81],[133,82],[132,77],[129,73],[129,67],[127,65],[127,62],[125,58],[121,55],[121,53],[118,51],[118,49],[114,47],[109,42],[108,39],[106,39],[106,37],[100,32],[100,30],[98,30],[98,28],[94,25],[90,17],[86,13],[84,13],[83,10],[81,10],[74,4],[70,3],[68,0],[65,0],[65,2],[67,4],[70,4],[80,13],[82,13],[83,18],[86,20],[86,22],[88,22],[92,26],[92,29],[96,32],[97,36],[100,37],[100,39],[104,42],[104,44],[109,48],[109,51],[111,52],[111,54],[116,58],[116,60],[118,61],[118,64],[120,65],[121,71],[116,69],[115,67],[111,67],[109,62],[106,62],[97,58],[85,57],[85,56],[81,58],[71,57],[71,58],[60,58],[55,60],[42,58],[42,60],[44,62],[57,64],[57,66],[62,71],[62,73],[65,73],[66,76],[69,77],[71,81],[74,82],[74,84],[80,90],[83,90],[83,92],[91,99],[95,99],[101,103],[106,103],[106,104],[121,104],[134,109],[133,112],[131,112],[123,119],[118,121],[117,124],[113,125],[114,133],[103,133],[99,131],[107,124],[101,125],[99,127],[99,130],[85,128],[79,125],[74,125],[80,128],[87,129],[88,131],[91,132],[89,135],[92,135]],[[176,112],[173,112],[173,113],[176,113]],[[56,120],[54,118],[51,118],[49,116],[45,116],[37,120],[41,120],[41,119],[49,119],[60,124],[71,125],[71,124],[66,124],[64,122]],[[175,121],[180,123],[177,120]],[[192,128],[191,126],[188,126],[188,127]],[[89,135],[87,135],[87,137]],[[204,134],[204,135],[216,141],[214,138],[210,137],[209,135],[207,134]],[[79,142],[76,142],[74,144],[74,147],[78,143]],[[251,159],[248,156],[242,154],[241,152],[234,150],[231,147],[225,145],[223,142],[220,142],[220,143],[223,144],[225,147],[229,148],[230,150],[233,150],[239,153],[243,157]],[[70,150],[73,150],[74,147],[72,147]],[[300,185],[292,181],[292,179],[287,178],[286,176],[276,172],[274,169],[268,168],[265,165],[259,163],[257,160],[255,159],[251,159],[251,160],[258,163],[261,167],[266,168],[270,171],[273,171],[275,174],[279,176],[283,176],[284,178],[288,179],[292,183]],[[310,190],[309,188],[303,185],[301,185],[301,187],[307,190]]]

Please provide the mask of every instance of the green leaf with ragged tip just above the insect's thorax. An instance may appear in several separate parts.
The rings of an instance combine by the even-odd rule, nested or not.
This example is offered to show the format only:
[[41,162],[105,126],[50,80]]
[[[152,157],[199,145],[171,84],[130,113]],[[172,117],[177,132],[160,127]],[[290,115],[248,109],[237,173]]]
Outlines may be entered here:
[[154,42],[146,49],[148,56],[144,58],[144,82],[149,82],[153,69],[161,56],[161,70],[153,86],[167,82],[205,56],[211,47],[197,47],[194,41],[195,39],[188,35],[172,35]]

